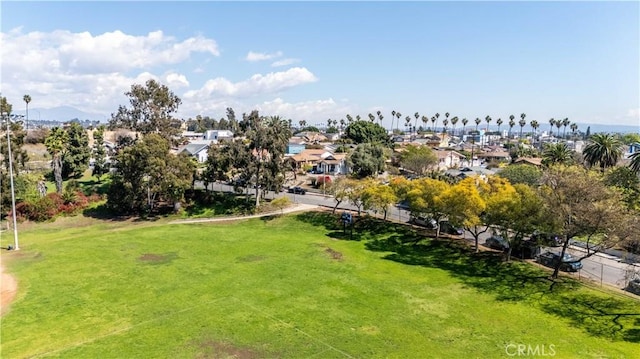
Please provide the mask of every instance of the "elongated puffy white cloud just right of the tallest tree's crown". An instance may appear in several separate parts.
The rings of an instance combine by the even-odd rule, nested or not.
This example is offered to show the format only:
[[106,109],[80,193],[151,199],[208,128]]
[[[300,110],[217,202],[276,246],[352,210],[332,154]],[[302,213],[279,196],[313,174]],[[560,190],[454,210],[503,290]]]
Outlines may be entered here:
[[211,96],[248,97],[286,90],[318,79],[304,67],[293,67],[283,72],[271,72],[266,75],[255,74],[249,79],[233,83],[219,77],[207,81],[199,90],[188,91],[185,98],[206,99]]

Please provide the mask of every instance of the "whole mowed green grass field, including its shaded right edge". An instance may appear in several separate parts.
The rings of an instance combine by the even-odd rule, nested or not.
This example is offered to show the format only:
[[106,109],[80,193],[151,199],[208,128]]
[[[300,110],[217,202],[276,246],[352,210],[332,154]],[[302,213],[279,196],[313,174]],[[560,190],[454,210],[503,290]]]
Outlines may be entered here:
[[640,355],[637,301],[572,281],[550,292],[530,265],[403,244],[415,234],[401,226],[361,222],[350,240],[319,212],[75,224],[29,227],[21,251],[3,252],[19,293],[1,357],[502,358],[509,344]]

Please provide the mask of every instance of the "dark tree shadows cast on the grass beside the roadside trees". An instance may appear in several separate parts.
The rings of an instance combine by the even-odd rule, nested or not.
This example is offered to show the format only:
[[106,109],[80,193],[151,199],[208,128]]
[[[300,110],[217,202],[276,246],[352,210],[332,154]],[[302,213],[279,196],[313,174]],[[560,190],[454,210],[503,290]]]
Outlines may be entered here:
[[[309,212],[297,219],[326,228],[331,238],[350,239],[338,214]],[[496,252],[475,253],[463,241],[429,239],[410,226],[367,219],[356,223],[356,233],[367,240],[366,249],[388,252],[386,260],[446,270],[496,300],[527,303],[595,337],[640,343],[640,305],[633,299],[580,290],[582,284],[568,277],[552,281],[548,271],[528,263],[505,262]]]

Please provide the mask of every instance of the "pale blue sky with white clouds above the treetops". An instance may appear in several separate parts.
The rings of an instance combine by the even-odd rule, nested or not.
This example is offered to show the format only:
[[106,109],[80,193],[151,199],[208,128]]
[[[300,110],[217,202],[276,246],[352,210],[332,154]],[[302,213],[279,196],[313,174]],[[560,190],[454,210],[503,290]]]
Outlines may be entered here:
[[2,94],[18,108],[28,93],[33,108],[108,118],[131,84],[155,78],[184,117],[526,113],[640,128],[635,1],[0,6]]

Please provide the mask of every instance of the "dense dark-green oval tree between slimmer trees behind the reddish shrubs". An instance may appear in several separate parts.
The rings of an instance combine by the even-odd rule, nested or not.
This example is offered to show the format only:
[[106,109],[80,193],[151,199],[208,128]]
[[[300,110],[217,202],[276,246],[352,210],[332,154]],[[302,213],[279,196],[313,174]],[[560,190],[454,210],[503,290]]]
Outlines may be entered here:
[[72,122],[65,131],[67,142],[62,156],[62,178],[78,178],[89,167],[91,158],[89,136],[77,122]]

